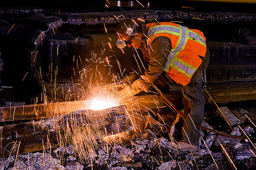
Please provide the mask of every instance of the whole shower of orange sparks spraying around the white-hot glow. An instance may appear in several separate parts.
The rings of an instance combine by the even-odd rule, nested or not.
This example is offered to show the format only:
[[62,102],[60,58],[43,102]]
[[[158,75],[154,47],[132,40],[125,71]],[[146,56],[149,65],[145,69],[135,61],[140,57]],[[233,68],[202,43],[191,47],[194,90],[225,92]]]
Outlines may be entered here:
[[[120,16],[124,17],[123,15],[120,15]],[[115,18],[118,18],[118,17],[115,17]],[[138,18],[138,20],[145,22],[140,18]],[[52,29],[53,31],[55,31],[54,28]],[[104,26],[104,29],[105,29],[105,32],[107,33],[105,26]],[[57,31],[57,28],[56,28],[56,31]],[[76,39],[75,41],[77,42],[77,40],[78,39]],[[112,41],[111,38],[109,38],[109,40]],[[147,110],[148,116],[152,113],[154,114],[154,112],[150,108],[146,108],[144,104],[139,104],[138,101],[134,101],[131,98],[126,99],[117,93],[118,92],[117,89],[121,85],[118,82],[120,82],[121,78],[123,78],[123,73],[125,69],[122,70],[122,65],[116,59],[117,57],[105,55],[105,53],[108,50],[112,49],[111,43],[102,42],[102,44],[103,44],[103,50],[101,50],[102,54],[97,55],[92,51],[91,57],[86,59],[84,59],[82,56],[81,57],[79,56],[79,59],[77,59],[75,56],[73,57],[71,56],[73,59],[73,62],[75,63],[75,67],[73,67],[74,74],[77,75],[77,72],[75,72],[75,68],[77,68],[78,70],[80,69],[78,76],[80,76],[80,81],[82,84],[82,88],[79,89],[80,90],[79,94],[76,95],[77,98],[75,100],[79,102],[80,101],[84,101],[84,102],[81,102],[81,106],[75,106],[75,105],[68,106],[69,110],[77,111],[77,110],[83,110],[83,109],[90,109],[94,111],[99,111],[102,109],[112,108],[112,107],[125,104],[127,107],[127,109],[125,107],[125,111],[127,113],[126,115],[131,120],[131,124],[135,134],[142,133],[143,129],[141,129],[138,122],[140,123],[145,122],[145,118],[144,118],[145,113],[141,111],[141,108]],[[124,53],[123,50],[122,52]],[[136,57],[139,57],[139,54],[137,51],[136,53],[137,53]],[[136,59],[137,64],[138,62],[142,63],[140,57],[139,59],[140,61],[139,60],[137,61]],[[115,63],[117,64],[117,68],[118,68],[117,76],[114,76],[113,72],[111,72],[111,67],[113,67],[114,65],[113,61],[115,61]],[[79,67],[78,67],[78,64],[79,64]],[[142,63],[142,66],[144,67],[143,63]],[[104,67],[106,70],[106,73],[103,73],[100,67]],[[56,77],[57,77],[58,71],[61,71],[61,70],[58,70],[58,68],[55,70],[53,63],[50,63],[49,70],[48,70],[49,77],[50,77],[50,82],[54,83],[50,91],[47,89],[49,88],[47,87],[47,82],[44,82],[42,80],[41,71],[42,70],[39,67],[38,77],[40,77],[42,81],[41,82],[41,85],[42,85],[41,102],[42,103],[49,102],[47,93],[51,93],[51,97],[56,99],[57,91],[59,91],[58,90],[59,88],[61,89],[60,96],[61,98],[63,98],[63,101],[71,101],[70,100],[71,95],[75,96],[75,93],[76,93],[75,91],[76,86],[73,83],[73,79],[72,79],[72,82],[70,82],[71,84],[70,86],[73,86],[74,88],[68,87],[69,88],[68,92],[65,94],[63,84],[61,87],[61,86],[58,86],[56,83],[57,82]],[[102,75],[111,75],[111,78],[112,78],[111,84],[109,82],[107,83],[104,79],[104,76]],[[106,88],[101,88],[100,90],[98,90],[99,87],[106,87]],[[36,103],[37,101],[34,101],[34,102]],[[156,100],[155,100],[155,103],[157,105]],[[158,107],[160,106],[157,106],[157,108]],[[57,108],[57,105],[56,105],[55,110],[57,109],[59,108]],[[122,145],[122,139],[125,139],[128,136],[128,134],[125,132],[108,136],[109,134],[107,134],[106,129],[104,132],[102,132],[102,130],[100,131],[98,125],[103,124],[104,122],[101,122],[101,119],[100,119],[100,121],[95,123],[95,119],[93,119],[92,117],[94,116],[100,117],[100,116],[103,116],[105,113],[99,113],[98,115],[86,114],[86,116],[84,116],[82,114],[71,115],[70,112],[61,111],[61,113],[59,113],[56,111],[56,113],[54,112],[53,114],[56,114],[56,115],[51,115],[49,117],[56,117],[53,120],[54,129],[57,132],[57,140],[60,148],[65,148],[68,144],[72,143],[72,146],[74,147],[78,156],[81,158],[81,161],[85,161],[87,163],[93,162],[94,157],[97,156],[96,150],[98,148],[105,147],[108,149],[108,151],[106,152],[109,153],[110,145],[113,146],[112,148],[115,148],[115,145]],[[63,119],[60,119],[60,117],[63,115],[71,115],[72,121],[61,122]],[[43,122],[43,121],[44,121],[43,119],[40,120],[40,122]],[[34,122],[33,122],[33,125],[34,125]],[[151,123],[150,123],[150,126],[152,126]],[[37,126],[35,127],[34,125],[33,128],[35,131],[35,129],[39,128],[39,125],[38,127]],[[162,129],[162,131],[164,131],[164,129]],[[14,146],[16,145],[17,147],[17,144],[15,143]],[[44,149],[51,148],[51,143],[49,141],[49,138],[47,140],[42,141],[42,145],[44,145]],[[61,155],[57,155],[57,156],[59,159],[63,158]],[[129,154],[121,153],[121,159],[123,159],[123,161],[131,161],[132,157],[133,157],[133,154],[129,155]]]

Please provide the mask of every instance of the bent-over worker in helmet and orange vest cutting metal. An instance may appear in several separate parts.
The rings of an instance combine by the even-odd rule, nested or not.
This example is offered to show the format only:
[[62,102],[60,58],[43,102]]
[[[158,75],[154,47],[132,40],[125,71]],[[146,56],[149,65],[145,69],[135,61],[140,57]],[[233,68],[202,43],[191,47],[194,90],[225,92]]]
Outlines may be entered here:
[[123,19],[116,27],[116,36],[118,47],[140,48],[143,60],[148,60],[148,67],[137,80],[134,81],[134,73],[126,77],[132,84],[125,86],[120,94],[127,97],[148,92],[153,82],[165,72],[182,85],[184,99],[182,138],[178,143],[170,144],[183,151],[198,150],[205,103],[202,75],[209,62],[203,33],[173,22],[137,23]]

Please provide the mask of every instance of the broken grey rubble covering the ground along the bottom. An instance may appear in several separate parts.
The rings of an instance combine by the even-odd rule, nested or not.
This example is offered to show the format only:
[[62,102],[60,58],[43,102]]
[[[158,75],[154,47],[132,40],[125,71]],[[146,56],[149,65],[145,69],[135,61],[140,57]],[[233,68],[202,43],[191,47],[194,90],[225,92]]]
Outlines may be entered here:
[[[226,119],[223,119],[218,111],[214,111],[211,114],[205,114],[202,127],[230,135],[255,137],[256,128],[250,123],[250,120],[240,121],[235,118],[235,114],[232,114],[232,112],[245,113],[245,109],[228,109],[225,107],[220,108],[220,110],[225,112],[225,115],[229,114],[226,119],[231,124],[228,125]],[[255,111],[256,109],[246,111],[246,115],[252,118],[252,122],[255,119],[250,115],[256,114]],[[210,121],[216,118],[219,121]],[[151,129],[148,122],[146,124],[146,129],[143,130],[142,134],[134,133],[127,136],[127,140],[122,143],[112,143],[108,147],[102,147],[99,144],[95,150],[88,151],[87,159],[79,157],[77,150],[70,144],[66,147],[0,158],[0,170],[224,170],[232,168],[243,170],[256,168],[254,139],[223,136],[202,128],[200,149],[196,152],[183,152],[173,149],[165,134],[154,133],[155,129]],[[157,121],[154,122],[154,125],[161,126]]]

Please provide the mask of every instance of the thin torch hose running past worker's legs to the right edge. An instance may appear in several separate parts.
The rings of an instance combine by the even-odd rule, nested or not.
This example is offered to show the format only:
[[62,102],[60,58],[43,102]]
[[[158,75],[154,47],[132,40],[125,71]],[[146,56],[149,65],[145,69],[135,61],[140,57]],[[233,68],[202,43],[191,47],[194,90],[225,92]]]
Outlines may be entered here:
[[[169,104],[169,107],[171,109],[173,109],[176,113],[180,114],[182,116],[182,114],[177,110],[177,108],[170,102],[168,101],[168,99],[166,98],[166,96],[157,88],[157,86],[155,84],[152,85],[158,92],[159,94],[163,97],[163,99]],[[201,126],[202,129],[205,129],[205,130],[208,130],[210,132],[214,132],[218,135],[222,135],[222,136],[227,136],[227,137],[233,137],[233,138],[238,138],[238,139],[254,139],[256,140],[256,138],[253,138],[253,137],[245,137],[245,136],[238,136],[238,135],[230,135],[230,134],[227,134],[227,133],[223,133],[223,132],[218,132],[218,131],[215,131],[215,130],[212,130],[212,129],[209,129],[209,128],[206,128],[206,127],[203,127]]]

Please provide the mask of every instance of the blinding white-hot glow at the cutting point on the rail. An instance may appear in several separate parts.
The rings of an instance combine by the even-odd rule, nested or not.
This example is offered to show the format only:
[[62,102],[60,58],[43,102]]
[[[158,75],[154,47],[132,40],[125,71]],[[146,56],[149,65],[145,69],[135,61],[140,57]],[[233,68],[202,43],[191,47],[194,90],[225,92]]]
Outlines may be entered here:
[[92,110],[102,110],[102,109],[107,109],[111,107],[118,106],[118,103],[115,102],[114,100],[111,99],[96,99],[94,98],[90,109]]

